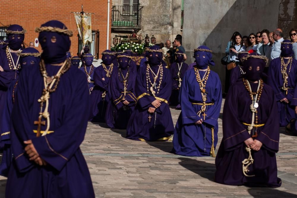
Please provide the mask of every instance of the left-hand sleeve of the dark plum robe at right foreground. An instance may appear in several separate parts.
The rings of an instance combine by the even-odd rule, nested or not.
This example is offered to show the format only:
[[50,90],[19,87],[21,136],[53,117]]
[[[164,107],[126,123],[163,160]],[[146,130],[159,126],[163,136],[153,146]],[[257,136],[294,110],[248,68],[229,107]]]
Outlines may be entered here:
[[236,85],[231,86],[223,109],[223,139],[225,150],[232,150],[236,145],[243,143],[251,136],[243,127],[238,116],[238,94]]

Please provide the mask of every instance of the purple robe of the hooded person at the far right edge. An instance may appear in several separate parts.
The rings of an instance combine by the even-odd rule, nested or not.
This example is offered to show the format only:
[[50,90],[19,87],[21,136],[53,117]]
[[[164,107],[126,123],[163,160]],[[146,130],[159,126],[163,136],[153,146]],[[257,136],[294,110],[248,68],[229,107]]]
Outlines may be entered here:
[[[284,59],[284,62],[287,63],[288,59]],[[289,72],[289,67],[287,67],[287,73]],[[273,59],[268,67],[268,78],[267,84],[272,87],[278,106],[278,116],[279,116],[279,125],[286,126],[292,118],[295,118],[295,106],[291,104],[293,98],[296,83],[297,83],[297,60],[293,59],[291,70],[288,78],[288,92],[286,94],[285,90],[282,90],[284,79],[282,78],[281,73],[281,59]],[[280,102],[283,98],[287,98],[290,102],[287,104],[285,102]]]

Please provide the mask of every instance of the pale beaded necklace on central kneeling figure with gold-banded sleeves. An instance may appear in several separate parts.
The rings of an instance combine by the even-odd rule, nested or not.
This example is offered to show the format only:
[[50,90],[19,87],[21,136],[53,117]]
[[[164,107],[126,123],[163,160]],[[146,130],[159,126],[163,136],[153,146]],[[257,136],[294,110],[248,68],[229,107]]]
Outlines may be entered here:
[[[154,78],[154,84],[151,83],[151,78],[150,78],[150,74],[149,74],[150,72],[149,72],[149,70],[151,70],[151,73],[152,73],[152,75],[153,75],[153,78]],[[157,78],[158,78],[158,76],[159,76],[159,73],[160,73],[159,85],[158,85],[158,87],[156,87],[156,85],[157,85],[157,84],[156,84],[156,81],[157,81]],[[149,64],[146,66],[146,88],[147,88],[148,93],[151,92],[151,94],[152,94],[153,96],[156,96],[156,95],[155,95],[156,92],[154,91],[154,89],[158,89],[157,94],[159,93],[159,91],[160,91],[160,87],[161,87],[161,84],[162,84],[162,78],[163,78],[163,67],[162,67],[162,65],[159,65],[159,69],[158,69],[157,74],[155,74],[155,73],[153,72],[153,70],[151,69],[151,67],[149,66]],[[149,89],[149,84],[151,84],[150,89]]]

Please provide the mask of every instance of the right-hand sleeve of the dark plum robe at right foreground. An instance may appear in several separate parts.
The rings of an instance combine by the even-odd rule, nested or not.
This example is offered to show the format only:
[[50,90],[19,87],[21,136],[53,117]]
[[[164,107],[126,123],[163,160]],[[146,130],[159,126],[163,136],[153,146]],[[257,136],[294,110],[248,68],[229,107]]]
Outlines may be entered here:
[[279,150],[279,117],[277,102],[273,92],[271,93],[270,98],[272,99],[271,111],[268,114],[268,118],[263,126],[263,129],[259,132],[255,139],[262,142],[264,147],[268,147],[269,150],[277,153]]

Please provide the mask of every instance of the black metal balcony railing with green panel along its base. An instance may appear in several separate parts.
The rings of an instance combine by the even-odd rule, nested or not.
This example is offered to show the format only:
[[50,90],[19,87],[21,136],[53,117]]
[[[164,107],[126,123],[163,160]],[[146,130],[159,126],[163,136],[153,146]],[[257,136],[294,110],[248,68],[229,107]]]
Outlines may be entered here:
[[141,11],[143,6],[113,6],[112,26],[141,27]]

